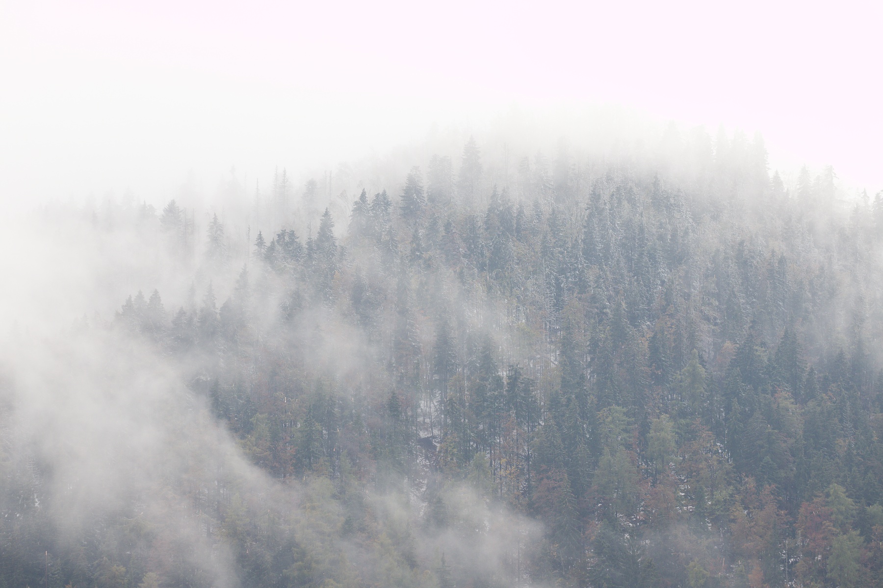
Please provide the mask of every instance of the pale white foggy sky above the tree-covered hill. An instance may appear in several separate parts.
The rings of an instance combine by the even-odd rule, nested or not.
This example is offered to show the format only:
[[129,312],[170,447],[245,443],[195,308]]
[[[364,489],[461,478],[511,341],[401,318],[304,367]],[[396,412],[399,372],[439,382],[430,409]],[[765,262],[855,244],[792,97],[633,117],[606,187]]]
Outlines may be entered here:
[[871,193],[879,6],[0,4],[0,198],[332,168],[518,108],[621,104],[766,138]]

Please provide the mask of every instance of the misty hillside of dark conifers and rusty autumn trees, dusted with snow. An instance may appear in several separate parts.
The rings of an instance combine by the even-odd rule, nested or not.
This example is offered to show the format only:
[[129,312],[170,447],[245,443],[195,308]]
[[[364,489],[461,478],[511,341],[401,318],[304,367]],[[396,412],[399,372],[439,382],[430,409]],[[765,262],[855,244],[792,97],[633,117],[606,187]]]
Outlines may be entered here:
[[77,336],[162,358],[269,481],[157,474],[189,539],[137,492],[61,532],[6,443],[0,585],[883,587],[883,194],[704,153],[494,185],[470,140],[309,231],[277,179],[247,252],[117,207],[191,294]]

